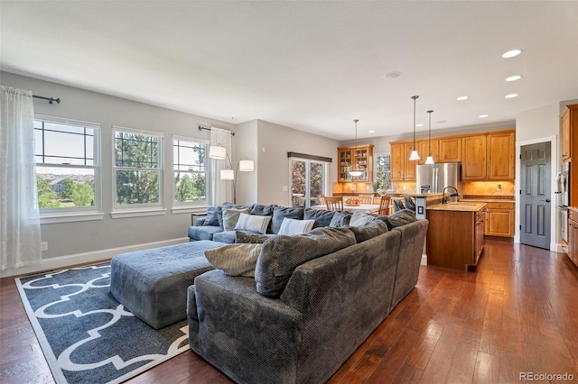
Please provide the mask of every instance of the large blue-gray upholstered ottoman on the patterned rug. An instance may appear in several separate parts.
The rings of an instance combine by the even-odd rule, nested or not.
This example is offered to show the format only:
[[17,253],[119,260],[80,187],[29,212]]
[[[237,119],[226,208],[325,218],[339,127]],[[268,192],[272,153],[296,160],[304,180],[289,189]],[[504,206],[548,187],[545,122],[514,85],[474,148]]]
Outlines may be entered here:
[[205,250],[222,245],[201,240],[119,254],[110,261],[110,293],[154,329],[184,320],[187,288],[213,270]]

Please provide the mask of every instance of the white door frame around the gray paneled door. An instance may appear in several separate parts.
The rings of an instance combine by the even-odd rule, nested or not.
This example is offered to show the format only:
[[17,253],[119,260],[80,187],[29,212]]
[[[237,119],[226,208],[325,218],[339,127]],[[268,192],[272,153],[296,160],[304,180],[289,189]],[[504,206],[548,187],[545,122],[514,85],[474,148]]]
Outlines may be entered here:
[[[555,175],[558,172],[558,137],[557,136],[546,136],[532,140],[526,140],[524,142],[516,142],[516,182],[514,193],[516,197],[516,226],[514,234],[514,242],[520,243],[520,225],[521,225],[521,212],[520,212],[520,169],[522,160],[520,156],[522,154],[521,148],[525,145],[537,144],[540,142],[550,142],[550,194],[552,195],[550,199],[555,201],[554,192],[557,190]],[[557,251],[561,244],[557,244],[556,241],[559,238],[558,232],[556,231],[556,210],[550,209],[550,251]]]

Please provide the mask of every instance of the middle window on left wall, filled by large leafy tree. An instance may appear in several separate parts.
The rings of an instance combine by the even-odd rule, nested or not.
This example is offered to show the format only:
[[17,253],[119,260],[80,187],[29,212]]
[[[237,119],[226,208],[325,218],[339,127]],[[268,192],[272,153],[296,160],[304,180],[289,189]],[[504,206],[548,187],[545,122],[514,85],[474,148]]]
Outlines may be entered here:
[[163,134],[113,126],[116,208],[160,207]]

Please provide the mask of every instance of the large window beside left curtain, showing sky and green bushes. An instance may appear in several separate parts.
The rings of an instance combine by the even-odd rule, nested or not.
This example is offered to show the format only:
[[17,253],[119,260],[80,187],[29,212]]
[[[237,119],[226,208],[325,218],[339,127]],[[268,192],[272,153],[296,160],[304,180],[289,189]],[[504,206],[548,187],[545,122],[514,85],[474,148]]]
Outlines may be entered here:
[[34,118],[34,156],[41,216],[98,211],[100,125]]

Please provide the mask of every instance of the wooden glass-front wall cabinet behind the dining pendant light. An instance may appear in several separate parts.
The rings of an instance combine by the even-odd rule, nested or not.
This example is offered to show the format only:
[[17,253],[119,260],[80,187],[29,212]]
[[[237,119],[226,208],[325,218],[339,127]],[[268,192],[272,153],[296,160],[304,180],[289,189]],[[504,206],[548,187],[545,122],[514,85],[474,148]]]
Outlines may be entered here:
[[[337,175],[339,182],[373,181],[373,145],[342,147],[337,149]],[[359,165],[365,169],[361,176],[351,176],[350,168]]]

